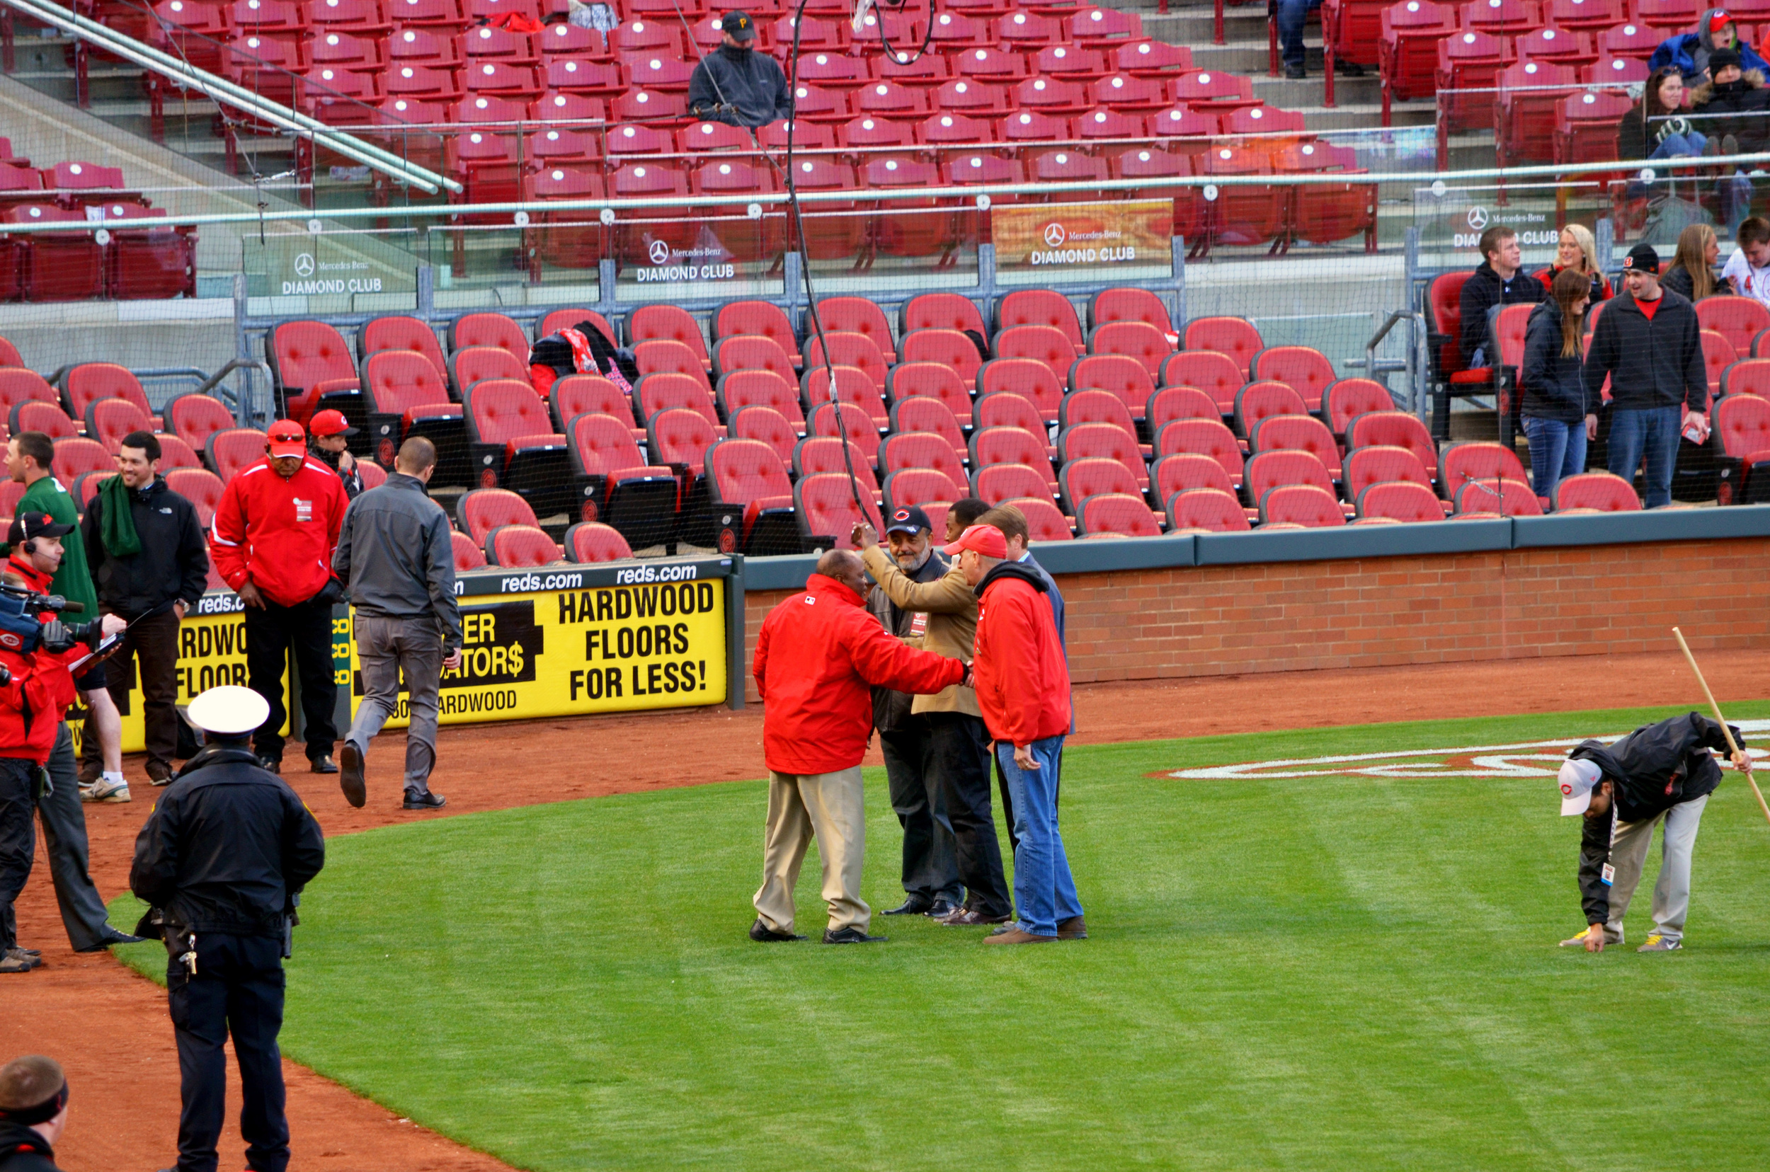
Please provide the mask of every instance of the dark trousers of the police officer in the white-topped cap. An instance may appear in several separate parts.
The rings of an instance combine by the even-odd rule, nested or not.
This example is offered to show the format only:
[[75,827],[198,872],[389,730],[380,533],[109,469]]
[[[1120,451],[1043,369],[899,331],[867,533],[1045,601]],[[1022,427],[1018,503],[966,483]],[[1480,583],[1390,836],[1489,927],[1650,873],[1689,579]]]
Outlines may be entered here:
[[251,1172],[285,1172],[281,942],[273,937],[196,933],[196,975],[166,961],[166,1002],[179,1043],[179,1172],[216,1172],[227,1110],[227,1043],[239,1060],[239,1133]]

